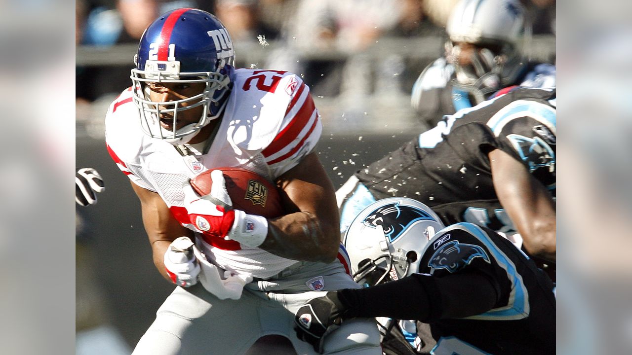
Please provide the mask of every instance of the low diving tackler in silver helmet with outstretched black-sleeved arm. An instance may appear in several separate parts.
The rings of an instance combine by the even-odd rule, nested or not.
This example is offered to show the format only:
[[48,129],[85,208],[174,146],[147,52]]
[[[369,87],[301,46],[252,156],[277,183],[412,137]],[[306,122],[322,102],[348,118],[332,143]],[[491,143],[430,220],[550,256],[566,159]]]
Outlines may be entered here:
[[465,222],[444,228],[423,203],[385,198],[358,214],[344,245],[356,280],[370,287],[328,292],[301,306],[301,339],[318,344],[349,320],[387,317],[429,323],[436,340],[430,354],[555,353],[551,280],[491,229]]

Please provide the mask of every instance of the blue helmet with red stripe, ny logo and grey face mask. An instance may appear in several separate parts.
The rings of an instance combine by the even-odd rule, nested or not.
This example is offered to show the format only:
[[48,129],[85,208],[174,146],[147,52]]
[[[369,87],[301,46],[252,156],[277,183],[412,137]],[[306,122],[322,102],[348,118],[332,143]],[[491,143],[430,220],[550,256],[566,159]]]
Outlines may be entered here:
[[[140,111],[143,131],[171,144],[184,144],[226,105],[234,68],[233,42],[216,16],[181,8],[159,16],[143,33],[131,69],[133,100]],[[186,99],[153,102],[147,83],[206,83],[204,90]],[[182,104],[190,104],[182,107]],[[203,106],[200,119],[177,129],[178,112]],[[163,128],[161,114],[173,116],[173,129]]]

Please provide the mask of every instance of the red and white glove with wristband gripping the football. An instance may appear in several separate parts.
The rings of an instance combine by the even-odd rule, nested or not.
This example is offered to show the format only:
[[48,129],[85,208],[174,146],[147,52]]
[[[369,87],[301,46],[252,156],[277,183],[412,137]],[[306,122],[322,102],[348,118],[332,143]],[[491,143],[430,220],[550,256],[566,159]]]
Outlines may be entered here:
[[222,171],[210,172],[210,194],[200,196],[190,184],[183,186],[184,205],[191,223],[202,233],[256,248],[264,243],[268,220],[260,215],[249,215],[233,209]]

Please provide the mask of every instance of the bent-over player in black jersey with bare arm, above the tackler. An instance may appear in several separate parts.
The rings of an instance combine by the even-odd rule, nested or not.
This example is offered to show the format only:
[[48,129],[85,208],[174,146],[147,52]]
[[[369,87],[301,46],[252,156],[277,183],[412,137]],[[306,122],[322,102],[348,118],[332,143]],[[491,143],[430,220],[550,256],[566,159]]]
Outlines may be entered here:
[[446,225],[489,227],[551,264],[556,260],[555,152],[555,90],[515,88],[446,116],[356,172],[336,193],[341,232],[370,203],[410,197],[430,206]]

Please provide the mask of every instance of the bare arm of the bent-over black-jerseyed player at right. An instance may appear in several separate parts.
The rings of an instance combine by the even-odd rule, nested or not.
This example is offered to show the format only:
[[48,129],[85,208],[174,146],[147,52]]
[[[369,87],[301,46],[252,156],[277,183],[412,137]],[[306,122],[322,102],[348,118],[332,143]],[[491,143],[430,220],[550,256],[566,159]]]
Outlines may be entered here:
[[555,262],[556,207],[549,191],[526,167],[500,149],[489,152],[498,200],[530,254]]

